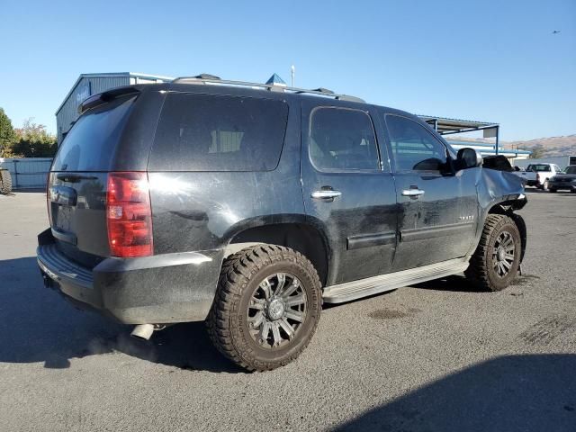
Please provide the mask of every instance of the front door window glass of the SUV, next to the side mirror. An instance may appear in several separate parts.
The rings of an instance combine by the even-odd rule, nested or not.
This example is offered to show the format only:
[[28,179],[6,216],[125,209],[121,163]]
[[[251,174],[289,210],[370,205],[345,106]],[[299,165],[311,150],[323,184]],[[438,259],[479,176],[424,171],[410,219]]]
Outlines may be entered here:
[[392,155],[397,171],[443,171],[446,147],[426,128],[398,115],[386,115]]

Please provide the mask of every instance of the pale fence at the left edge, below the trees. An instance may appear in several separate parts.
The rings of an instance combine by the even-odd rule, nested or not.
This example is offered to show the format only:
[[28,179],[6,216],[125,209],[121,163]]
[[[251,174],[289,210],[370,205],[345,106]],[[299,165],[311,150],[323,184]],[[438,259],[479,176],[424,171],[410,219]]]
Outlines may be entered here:
[[46,187],[51,157],[0,157],[0,167],[10,171],[13,189]]

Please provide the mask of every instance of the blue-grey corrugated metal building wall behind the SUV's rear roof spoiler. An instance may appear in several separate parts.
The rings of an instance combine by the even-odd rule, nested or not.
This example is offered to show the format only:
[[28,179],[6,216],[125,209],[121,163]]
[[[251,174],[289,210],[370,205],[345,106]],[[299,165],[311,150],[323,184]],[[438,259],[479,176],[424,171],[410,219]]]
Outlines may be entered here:
[[86,82],[90,82],[90,94],[98,94],[110,90],[113,87],[130,85],[130,76],[101,76],[83,77],[80,79],[74,91],[62,105],[62,109],[56,116],[56,128],[58,130],[58,144],[62,142],[62,133],[66,133],[72,126],[72,122],[78,118],[78,103],[76,101],[76,89],[82,88]]

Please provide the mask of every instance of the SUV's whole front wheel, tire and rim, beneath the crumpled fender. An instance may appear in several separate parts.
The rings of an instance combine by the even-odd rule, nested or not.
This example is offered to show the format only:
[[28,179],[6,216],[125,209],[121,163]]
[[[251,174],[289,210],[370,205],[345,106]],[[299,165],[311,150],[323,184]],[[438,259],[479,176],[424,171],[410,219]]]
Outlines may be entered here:
[[489,214],[464,275],[484,290],[503,290],[518,274],[521,252],[520,232],[514,220],[503,214]]

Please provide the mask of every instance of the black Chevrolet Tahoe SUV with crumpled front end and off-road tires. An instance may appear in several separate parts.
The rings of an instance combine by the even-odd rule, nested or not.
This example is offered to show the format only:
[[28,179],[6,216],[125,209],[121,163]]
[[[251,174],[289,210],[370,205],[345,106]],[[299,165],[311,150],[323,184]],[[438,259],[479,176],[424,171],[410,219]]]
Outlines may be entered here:
[[49,173],[45,284],[149,338],[206,320],[249,370],[308,345],[322,302],[461,272],[501,290],[521,179],[408,113],[211,76],[96,94]]

